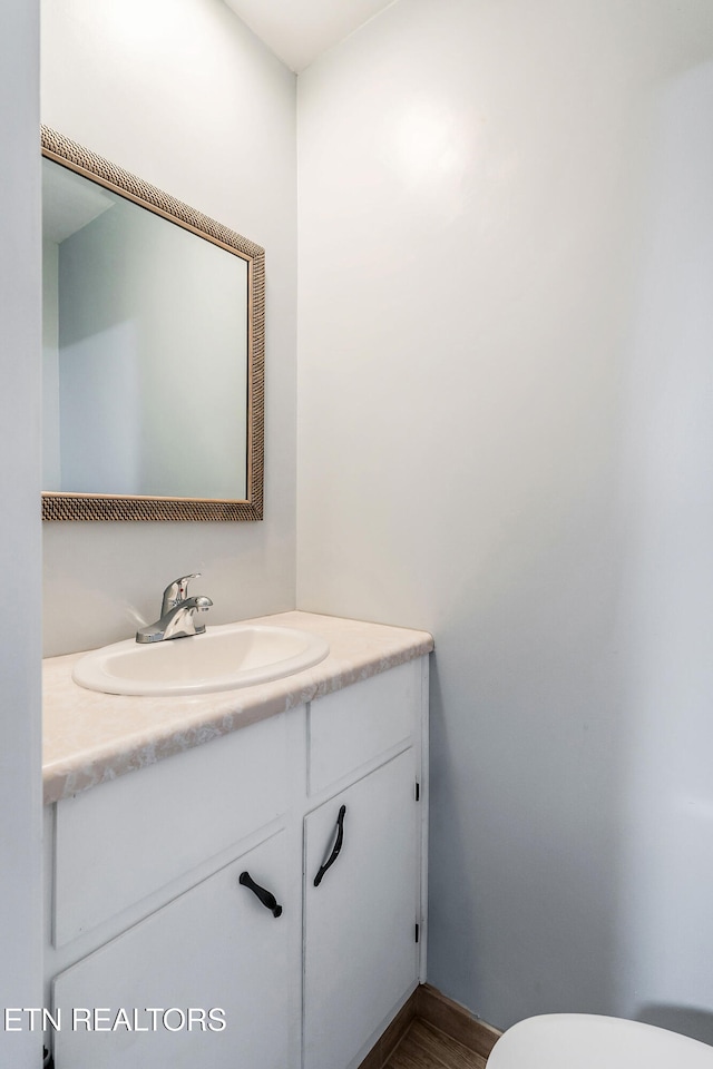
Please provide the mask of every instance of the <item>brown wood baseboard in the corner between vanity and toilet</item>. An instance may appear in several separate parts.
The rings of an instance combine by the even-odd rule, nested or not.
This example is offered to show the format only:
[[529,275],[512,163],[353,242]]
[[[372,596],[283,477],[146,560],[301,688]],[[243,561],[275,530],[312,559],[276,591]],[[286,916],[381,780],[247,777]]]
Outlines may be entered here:
[[481,1058],[488,1057],[502,1034],[497,1028],[479,1021],[458,1002],[441,994],[430,983],[421,983],[399,1010],[359,1069],[383,1069],[414,1018],[420,1018],[441,1032],[446,1032],[451,1039],[462,1043],[473,1053],[480,1055]]

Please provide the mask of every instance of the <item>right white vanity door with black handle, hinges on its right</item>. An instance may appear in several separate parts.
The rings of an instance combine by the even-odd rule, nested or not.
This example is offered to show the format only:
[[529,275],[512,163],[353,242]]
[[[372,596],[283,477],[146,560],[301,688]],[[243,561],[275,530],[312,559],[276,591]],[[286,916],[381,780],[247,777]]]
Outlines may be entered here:
[[414,772],[408,749],[305,818],[305,1069],[346,1069],[416,987]]

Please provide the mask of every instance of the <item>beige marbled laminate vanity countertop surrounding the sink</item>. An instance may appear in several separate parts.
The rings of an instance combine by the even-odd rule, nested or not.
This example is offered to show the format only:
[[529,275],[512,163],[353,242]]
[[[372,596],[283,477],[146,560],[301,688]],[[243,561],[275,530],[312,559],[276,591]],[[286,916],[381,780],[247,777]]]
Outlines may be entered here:
[[253,687],[172,697],[102,694],[78,686],[84,653],[42,663],[45,803],[71,797],[164,757],[429,654],[428,631],[293,610],[245,624],[300,628],[330,644],[325,660]]

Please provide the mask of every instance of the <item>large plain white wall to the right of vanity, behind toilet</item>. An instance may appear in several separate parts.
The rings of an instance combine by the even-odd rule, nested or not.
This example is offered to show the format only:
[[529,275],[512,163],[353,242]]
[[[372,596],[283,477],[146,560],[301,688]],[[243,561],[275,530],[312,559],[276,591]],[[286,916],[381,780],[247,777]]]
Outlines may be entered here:
[[297,601],[436,636],[429,979],[713,1042],[710,0],[401,0],[299,86]]

